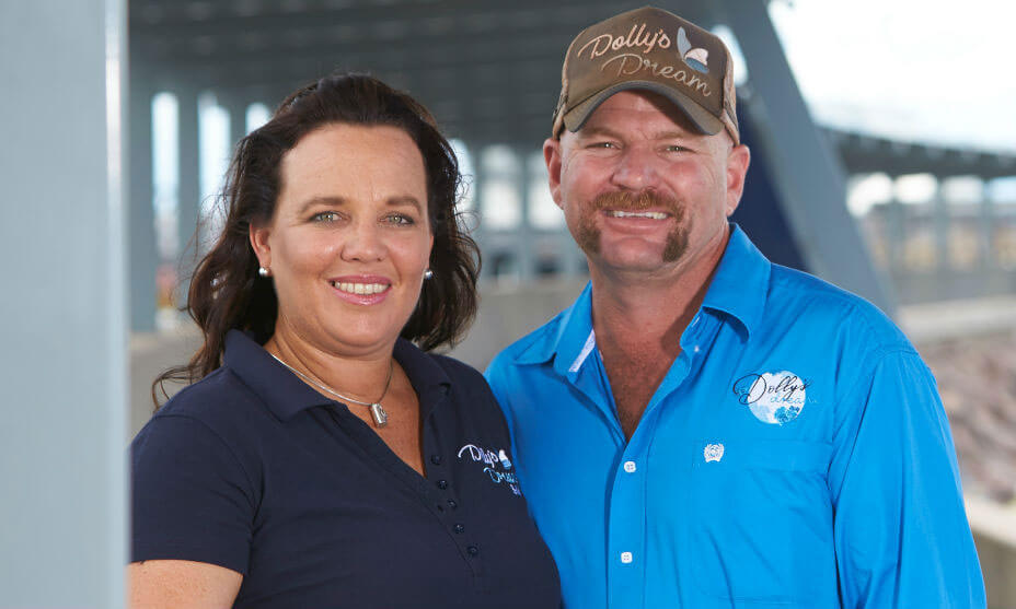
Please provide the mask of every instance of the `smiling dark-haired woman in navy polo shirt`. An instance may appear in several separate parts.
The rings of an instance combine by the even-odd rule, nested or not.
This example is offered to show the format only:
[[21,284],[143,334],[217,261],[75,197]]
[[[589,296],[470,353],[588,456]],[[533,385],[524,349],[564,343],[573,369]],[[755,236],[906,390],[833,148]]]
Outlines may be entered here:
[[458,166],[363,75],[243,139],[188,308],[197,383],[131,446],[131,607],[556,608],[482,376],[424,350],[476,307]]

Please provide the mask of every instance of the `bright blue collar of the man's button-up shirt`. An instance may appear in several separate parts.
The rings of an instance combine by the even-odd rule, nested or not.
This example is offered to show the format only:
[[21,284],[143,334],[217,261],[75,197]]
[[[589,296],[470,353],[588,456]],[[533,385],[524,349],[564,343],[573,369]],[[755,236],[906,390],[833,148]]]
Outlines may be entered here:
[[[758,326],[769,294],[772,262],[751,243],[744,231],[730,223],[730,238],[719,260],[702,308],[723,312],[735,319],[749,335]],[[592,284],[588,283],[575,303],[558,315],[556,332],[547,331],[523,351],[516,361],[520,364],[544,363],[554,359],[558,374],[574,373],[591,348],[596,347],[592,332]]]

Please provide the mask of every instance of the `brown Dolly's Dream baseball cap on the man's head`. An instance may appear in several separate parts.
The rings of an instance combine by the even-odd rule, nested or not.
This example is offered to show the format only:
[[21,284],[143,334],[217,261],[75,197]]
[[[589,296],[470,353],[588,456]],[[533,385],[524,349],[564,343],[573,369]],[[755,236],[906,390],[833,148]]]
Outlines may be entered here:
[[673,13],[643,7],[582,30],[561,70],[553,137],[578,131],[604,99],[627,89],[666,96],[703,133],[740,138],[734,62],[719,37]]

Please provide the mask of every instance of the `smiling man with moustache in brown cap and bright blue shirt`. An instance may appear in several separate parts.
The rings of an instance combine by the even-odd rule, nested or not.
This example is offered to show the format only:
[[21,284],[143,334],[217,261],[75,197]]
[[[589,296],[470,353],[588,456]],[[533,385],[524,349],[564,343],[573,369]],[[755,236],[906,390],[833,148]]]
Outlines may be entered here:
[[731,72],[653,8],[565,58],[544,156],[591,285],[487,371],[565,606],[984,607],[927,367],[728,223]]

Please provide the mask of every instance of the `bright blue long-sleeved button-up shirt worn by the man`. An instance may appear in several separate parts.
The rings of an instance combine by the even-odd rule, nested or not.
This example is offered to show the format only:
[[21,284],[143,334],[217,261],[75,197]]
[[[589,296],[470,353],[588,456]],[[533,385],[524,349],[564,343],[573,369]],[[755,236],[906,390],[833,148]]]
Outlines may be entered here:
[[984,607],[935,380],[732,227],[631,441],[591,288],[487,371],[569,609]]

